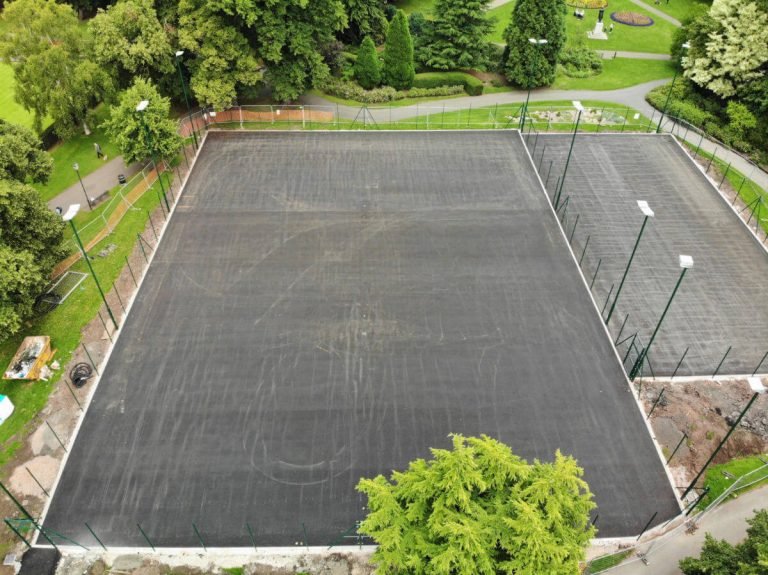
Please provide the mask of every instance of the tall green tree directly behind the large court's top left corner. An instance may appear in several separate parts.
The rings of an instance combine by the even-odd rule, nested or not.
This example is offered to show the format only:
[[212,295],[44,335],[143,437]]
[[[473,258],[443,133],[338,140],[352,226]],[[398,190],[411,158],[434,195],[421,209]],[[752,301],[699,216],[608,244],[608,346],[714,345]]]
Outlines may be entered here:
[[190,88],[203,105],[231,106],[238,89],[255,86],[262,78],[246,36],[231,17],[205,0],[180,0],[179,43],[191,53]]

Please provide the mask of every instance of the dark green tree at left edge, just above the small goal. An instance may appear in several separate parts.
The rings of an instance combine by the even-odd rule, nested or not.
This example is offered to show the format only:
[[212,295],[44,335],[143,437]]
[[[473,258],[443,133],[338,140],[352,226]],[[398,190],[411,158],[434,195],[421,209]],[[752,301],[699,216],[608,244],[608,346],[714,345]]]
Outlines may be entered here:
[[32,315],[35,298],[64,256],[64,222],[37,192],[0,180],[0,341]]

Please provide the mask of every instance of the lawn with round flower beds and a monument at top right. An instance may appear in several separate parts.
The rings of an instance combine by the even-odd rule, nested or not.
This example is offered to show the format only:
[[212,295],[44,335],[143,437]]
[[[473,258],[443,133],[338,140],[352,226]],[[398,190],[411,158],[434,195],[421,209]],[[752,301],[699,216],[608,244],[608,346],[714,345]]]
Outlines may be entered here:
[[[675,1],[675,0],[671,0]],[[492,42],[504,43],[504,29],[509,24],[510,14],[512,13],[512,4],[504,4],[494,8],[489,12],[496,18],[496,28],[491,34]],[[597,10],[587,10],[584,20],[577,20],[572,14],[572,10],[566,16],[566,30],[568,41],[573,43],[578,38],[584,38],[587,46],[593,50],[625,50],[628,52],[653,52],[658,54],[668,54],[669,47],[672,44],[672,34],[675,26],[658,16],[646,12],[631,0],[611,0],[609,7],[605,11],[605,25],[611,23],[611,12],[628,10],[639,12],[654,19],[653,26],[634,27],[625,24],[614,23],[614,30],[608,40],[588,40],[587,31],[592,30],[597,22]]]

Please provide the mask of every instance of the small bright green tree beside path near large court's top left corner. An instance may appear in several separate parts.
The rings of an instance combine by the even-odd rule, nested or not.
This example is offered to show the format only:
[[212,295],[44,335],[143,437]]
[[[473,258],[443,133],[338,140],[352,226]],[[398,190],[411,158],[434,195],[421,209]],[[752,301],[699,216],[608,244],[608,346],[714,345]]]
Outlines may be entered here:
[[[142,100],[148,100],[149,105],[143,112],[137,112],[136,106]],[[182,138],[176,131],[176,122],[169,117],[170,108],[170,100],[162,97],[144,78],[137,78],[133,86],[123,92],[104,128],[120,148],[126,163],[147,156],[170,158],[179,152]]]

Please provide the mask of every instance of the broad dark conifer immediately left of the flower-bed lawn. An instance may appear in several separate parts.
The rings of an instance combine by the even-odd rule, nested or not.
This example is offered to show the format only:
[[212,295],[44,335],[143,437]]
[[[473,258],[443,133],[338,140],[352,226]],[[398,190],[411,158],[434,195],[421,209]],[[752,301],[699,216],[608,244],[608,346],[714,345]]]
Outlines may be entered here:
[[[557,59],[565,46],[563,0],[519,0],[504,36],[507,50],[502,65],[507,79],[522,88],[548,86],[555,81]],[[529,38],[547,43],[534,46]]]

